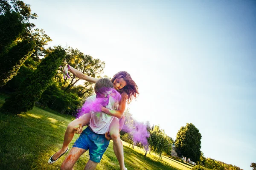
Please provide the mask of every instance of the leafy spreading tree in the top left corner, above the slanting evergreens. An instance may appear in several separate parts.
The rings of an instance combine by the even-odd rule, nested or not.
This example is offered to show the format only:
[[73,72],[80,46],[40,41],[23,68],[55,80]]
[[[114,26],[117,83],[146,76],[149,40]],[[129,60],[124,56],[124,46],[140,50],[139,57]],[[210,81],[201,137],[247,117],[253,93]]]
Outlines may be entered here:
[[[35,42],[35,48],[32,53],[32,57],[35,60],[40,60],[39,57],[45,56],[48,50],[45,45],[49,41],[52,41],[50,37],[45,34],[43,29],[34,29],[35,24],[31,23],[31,20],[36,19],[37,14],[31,13],[31,8],[29,4],[25,4],[21,0],[10,0],[10,4],[7,0],[1,0],[0,6],[0,17],[5,20],[0,19],[0,41],[9,40],[8,42],[13,42],[17,37],[20,40],[30,40]],[[1,37],[3,33],[4,38]],[[0,45],[1,49],[1,45]],[[1,50],[0,50],[1,51]]]

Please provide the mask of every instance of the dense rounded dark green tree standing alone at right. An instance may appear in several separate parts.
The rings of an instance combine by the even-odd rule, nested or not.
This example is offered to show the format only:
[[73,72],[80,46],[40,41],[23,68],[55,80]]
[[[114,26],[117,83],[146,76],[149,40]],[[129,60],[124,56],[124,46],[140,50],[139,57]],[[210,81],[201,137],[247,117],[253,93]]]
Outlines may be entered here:
[[192,123],[187,123],[186,126],[180,127],[175,142],[177,156],[186,156],[194,162],[199,161],[201,138],[201,133]]

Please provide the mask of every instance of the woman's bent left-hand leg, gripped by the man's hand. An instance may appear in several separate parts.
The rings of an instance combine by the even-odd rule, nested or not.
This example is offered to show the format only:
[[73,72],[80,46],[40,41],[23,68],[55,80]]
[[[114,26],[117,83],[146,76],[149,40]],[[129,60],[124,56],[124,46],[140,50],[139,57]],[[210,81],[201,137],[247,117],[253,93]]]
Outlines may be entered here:
[[79,126],[79,124],[81,124],[82,126],[88,125],[90,122],[90,117],[91,117],[91,114],[86,113],[83,116],[79,117],[79,119],[75,119],[72,122],[70,122],[70,124],[67,125],[62,148],[60,150],[58,150],[58,152],[52,156],[53,160],[58,159],[58,157],[61,156],[61,154],[67,150],[68,145],[70,144],[70,142],[72,141],[72,139],[75,135],[74,128],[76,126]]

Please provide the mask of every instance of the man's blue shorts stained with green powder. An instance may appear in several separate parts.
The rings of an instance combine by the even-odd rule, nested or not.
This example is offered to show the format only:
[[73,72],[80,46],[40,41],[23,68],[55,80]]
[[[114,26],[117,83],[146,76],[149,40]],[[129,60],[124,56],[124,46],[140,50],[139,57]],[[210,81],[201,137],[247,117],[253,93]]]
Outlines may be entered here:
[[90,130],[88,126],[76,139],[73,147],[89,150],[90,160],[99,163],[108,148],[108,144],[109,141],[105,138],[105,134],[99,135]]

